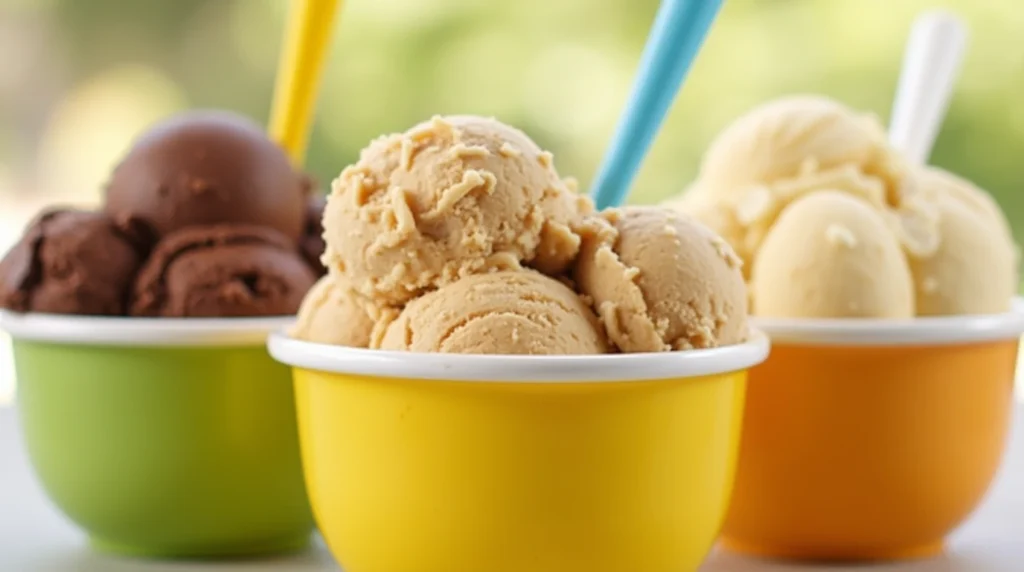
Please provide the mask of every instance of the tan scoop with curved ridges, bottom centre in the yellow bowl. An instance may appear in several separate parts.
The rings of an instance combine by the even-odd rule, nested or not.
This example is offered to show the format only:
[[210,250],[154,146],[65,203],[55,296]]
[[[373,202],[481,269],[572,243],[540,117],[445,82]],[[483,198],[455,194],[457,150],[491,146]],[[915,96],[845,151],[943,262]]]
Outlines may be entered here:
[[599,354],[597,317],[572,290],[530,270],[475,274],[410,302],[384,350],[466,354]]

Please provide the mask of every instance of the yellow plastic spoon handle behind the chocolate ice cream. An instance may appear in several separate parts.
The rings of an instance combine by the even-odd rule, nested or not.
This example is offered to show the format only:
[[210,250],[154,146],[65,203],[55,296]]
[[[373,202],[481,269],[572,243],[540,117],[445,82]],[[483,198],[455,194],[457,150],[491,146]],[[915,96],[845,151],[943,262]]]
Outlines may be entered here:
[[289,0],[288,30],[282,46],[270,112],[270,137],[292,162],[305,162],[324,63],[341,0]]

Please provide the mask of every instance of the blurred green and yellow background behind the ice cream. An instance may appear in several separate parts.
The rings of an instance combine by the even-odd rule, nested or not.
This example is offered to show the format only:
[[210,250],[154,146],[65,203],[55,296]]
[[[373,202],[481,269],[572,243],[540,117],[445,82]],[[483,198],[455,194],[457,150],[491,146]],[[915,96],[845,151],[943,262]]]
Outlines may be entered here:
[[[656,6],[345,0],[309,169],[326,185],[382,132],[433,114],[481,114],[525,130],[586,188]],[[228,107],[264,121],[287,7],[0,0],[0,250],[44,204],[98,203],[113,164],[162,116]],[[1021,0],[726,0],[633,201],[678,192],[711,138],[772,97],[823,93],[886,121],[910,23],[932,7],[953,9],[972,30],[933,163],[988,189],[1021,236]]]

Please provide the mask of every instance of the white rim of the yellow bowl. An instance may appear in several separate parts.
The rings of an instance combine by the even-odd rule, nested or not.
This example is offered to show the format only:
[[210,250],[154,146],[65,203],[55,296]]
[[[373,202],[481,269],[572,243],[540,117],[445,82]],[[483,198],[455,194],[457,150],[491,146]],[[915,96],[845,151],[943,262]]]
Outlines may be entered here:
[[696,378],[746,369],[768,357],[757,331],[734,346],[708,350],[606,355],[470,355],[346,348],[304,342],[274,332],[267,349],[294,367],[403,380],[477,383],[639,382]]

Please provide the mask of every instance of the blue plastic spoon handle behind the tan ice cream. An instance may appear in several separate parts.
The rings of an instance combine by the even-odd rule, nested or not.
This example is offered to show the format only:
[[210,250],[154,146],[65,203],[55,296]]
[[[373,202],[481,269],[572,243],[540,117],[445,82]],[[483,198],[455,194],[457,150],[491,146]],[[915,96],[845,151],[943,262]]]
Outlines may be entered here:
[[598,209],[626,200],[647,149],[700,50],[722,0],[663,0],[640,57],[626,113],[594,179]]

